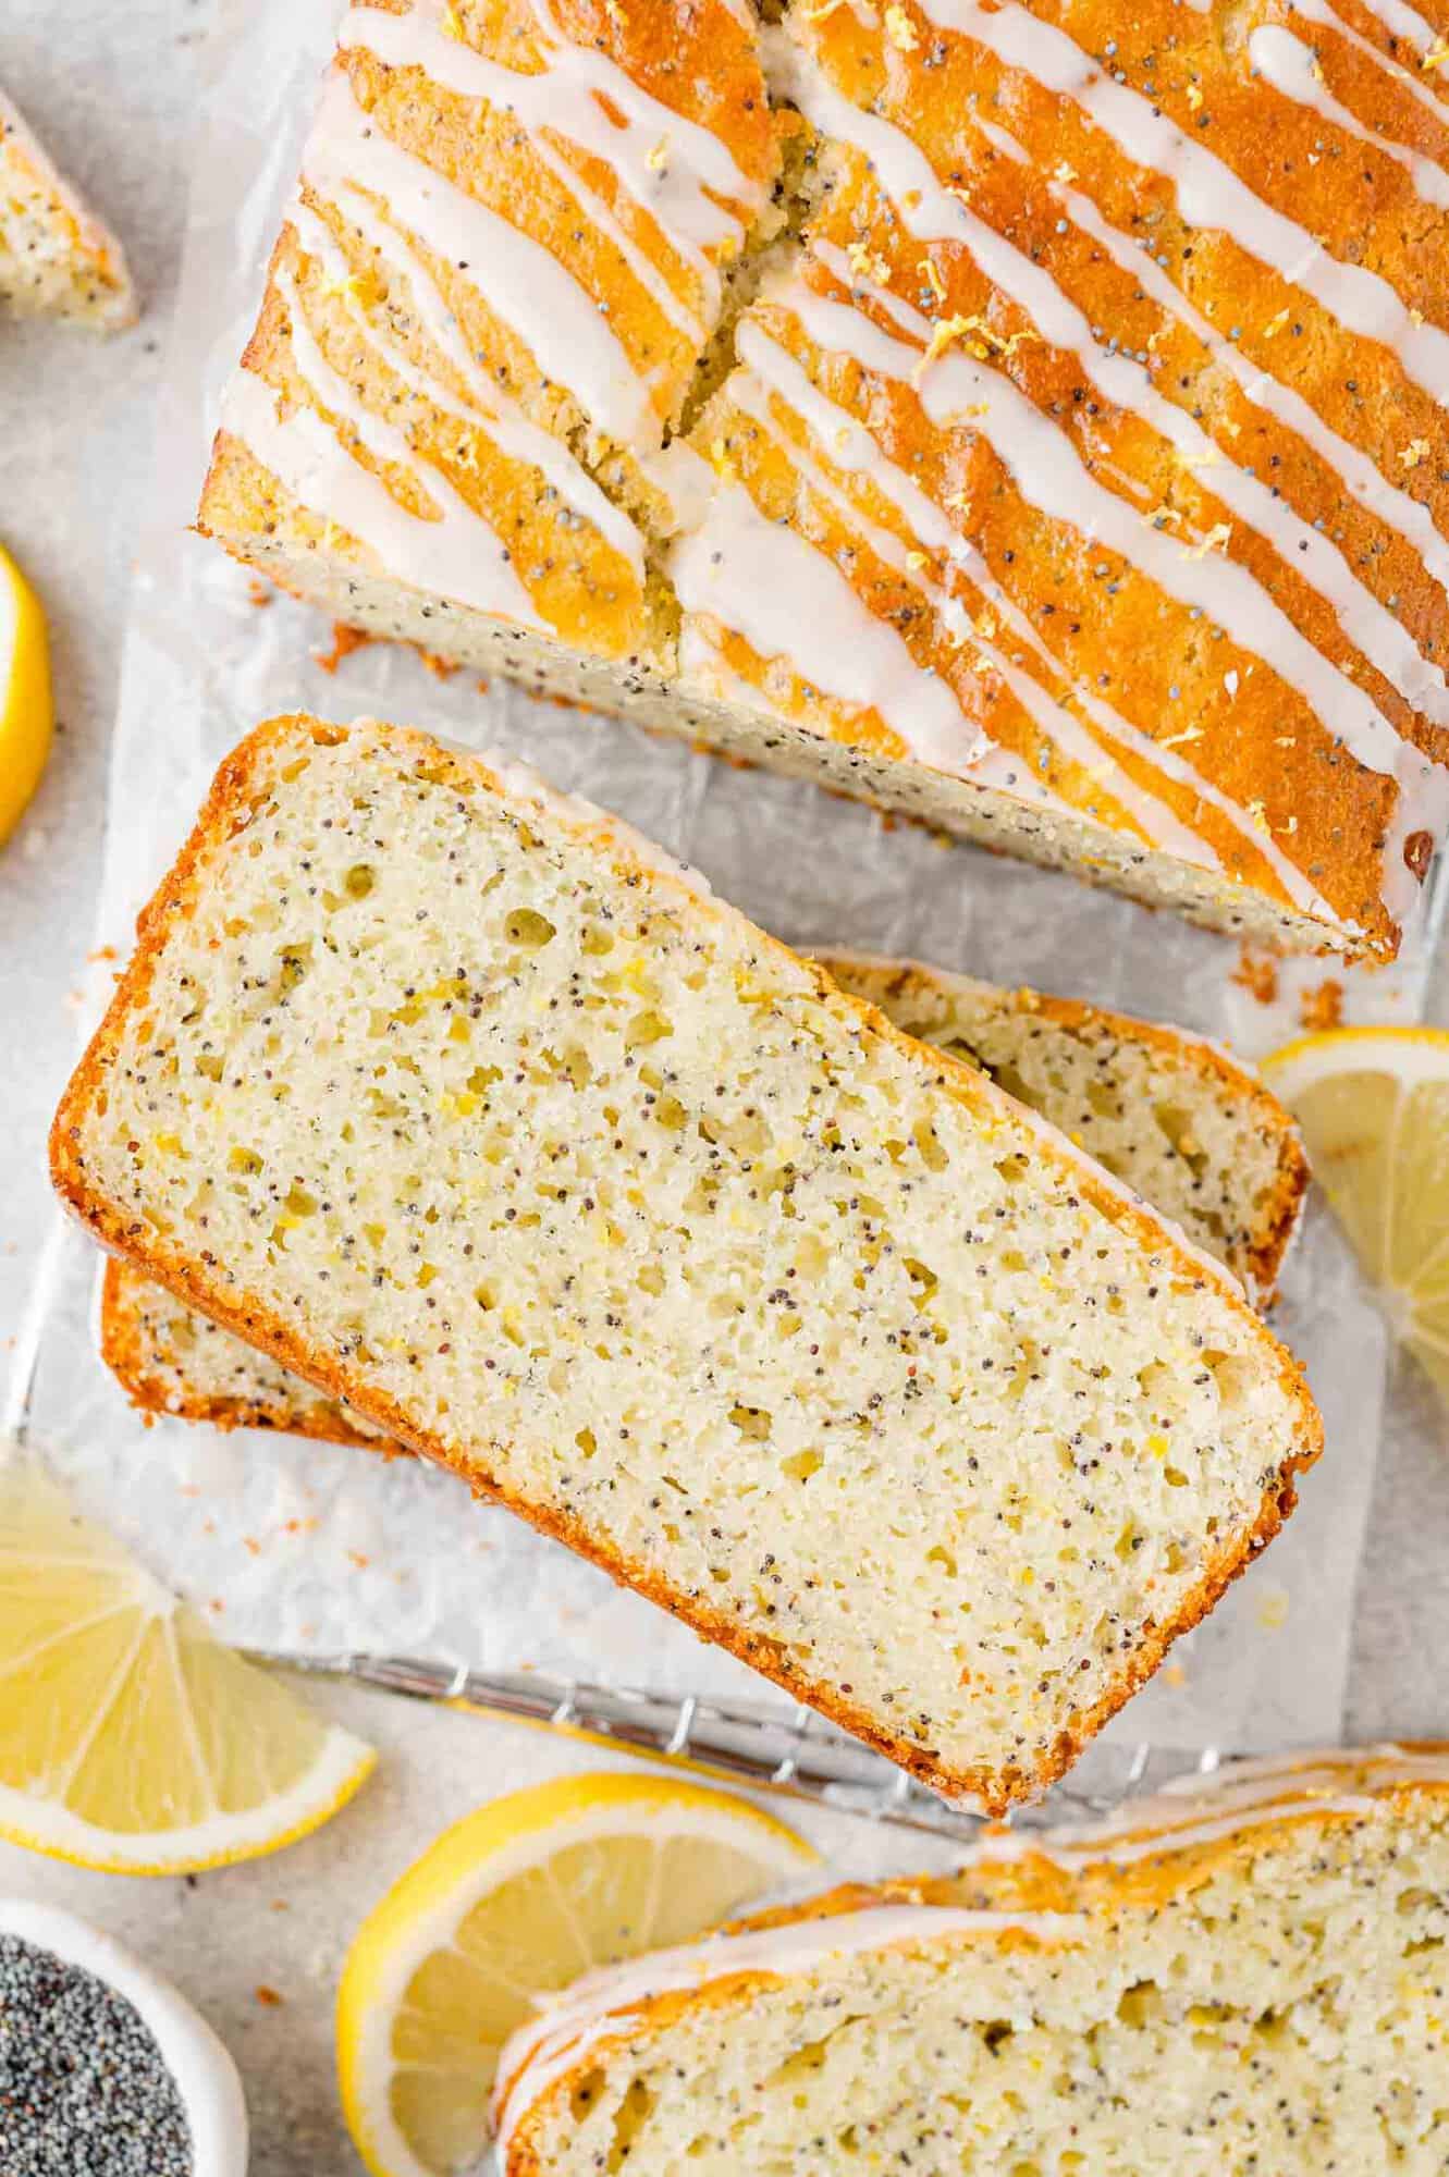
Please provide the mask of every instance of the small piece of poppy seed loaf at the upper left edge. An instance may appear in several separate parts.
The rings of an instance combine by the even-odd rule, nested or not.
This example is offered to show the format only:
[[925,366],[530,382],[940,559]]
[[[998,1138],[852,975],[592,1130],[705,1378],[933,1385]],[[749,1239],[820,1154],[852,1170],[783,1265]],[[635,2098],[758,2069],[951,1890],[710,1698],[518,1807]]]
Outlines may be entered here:
[[74,318],[107,333],[131,324],[137,313],[120,242],[57,172],[4,91],[0,305],[17,316]]

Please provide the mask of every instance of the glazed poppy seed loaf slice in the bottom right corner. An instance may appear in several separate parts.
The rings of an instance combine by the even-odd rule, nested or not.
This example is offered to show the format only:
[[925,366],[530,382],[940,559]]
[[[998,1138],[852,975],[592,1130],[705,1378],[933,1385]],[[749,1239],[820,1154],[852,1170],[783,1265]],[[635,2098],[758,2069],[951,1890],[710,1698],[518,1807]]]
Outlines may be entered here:
[[1449,1748],[1238,1763],[590,1975],[503,2051],[500,2164],[1429,2177],[1447,1942]]

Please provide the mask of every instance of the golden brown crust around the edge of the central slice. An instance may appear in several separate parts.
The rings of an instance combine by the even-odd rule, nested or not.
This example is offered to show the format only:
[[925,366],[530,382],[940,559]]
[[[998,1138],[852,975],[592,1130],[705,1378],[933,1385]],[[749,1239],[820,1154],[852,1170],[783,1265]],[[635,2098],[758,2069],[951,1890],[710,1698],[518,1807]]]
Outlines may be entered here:
[[[370,727],[370,731],[376,729]],[[429,740],[424,734],[416,734],[407,727],[385,727],[381,731],[385,734],[389,751],[396,753],[400,762],[411,760],[416,766],[426,768],[431,779],[459,779],[468,782],[468,786],[483,784],[487,790],[500,790],[494,773],[490,773],[476,758],[457,755]],[[355,1406],[370,1422],[376,1422],[389,1437],[396,1437],[398,1443],[418,1452],[422,1459],[433,1459],[437,1465],[463,1472],[463,1478],[476,1496],[505,1504],[540,1533],[568,1543],[568,1548],[572,1548],[579,1557],[590,1559],[611,1578],[648,1596],[648,1600],[681,1618],[705,1639],[729,1648],[766,1678],[772,1678],[777,1685],[794,1694],[796,1700],[805,1700],[820,1709],[820,1713],[842,1724],[864,1744],[888,1755],[901,1768],[907,1768],[922,1783],[949,1798],[979,1803],[988,1813],[1005,1813],[1014,1803],[1038,1796],[1049,1783],[1064,1774],[1101,1724],[1105,1724],[1107,1718],[1114,1715],[1123,1702],[1153,1674],[1171,1641],[1179,1633],[1194,1626],[1205,1611],[1212,1609],[1229,1581],[1238,1578],[1238,1574],[1251,1563],[1258,1550],[1277,1533],[1286,1515],[1292,1511],[1292,1504],[1297,1502],[1295,1476],[1312,1465],[1323,1448],[1323,1422],[1312,1404],[1312,1398],[1308,1395],[1303,1374],[1292,1354],[1277,1345],[1277,1341],[1268,1339],[1260,1319],[1251,1313],[1247,1302],[1229,1289],[1225,1278],[1216,1271],[1216,1265],[1210,1265],[1205,1258],[1190,1256],[1186,1247],[1175,1241],[1144,1208],[1114,1189],[1105,1173],[1097,1171],[1086,1158],[1073,1158],[1064,1141],[1042,1134],[1042,1154],[1053,1163],[1068,1165],[1073,1189],[1079,1195],[1090,1200],[1112,1223],[1131,1232],[1149,1252],[1173,1263],[1179,1276],[1201,1284],[1216,1284],[1223,1302],[1242,1315],[1244,1324],[1251,1326],[1253,1337],[1275,1348],[1279,1382],[1299,1415],[1299,1450],[1284,1463],[1275,1480],[1264,1489],[1260,1513],[1251,1530],[1218,1552],[1171,1624],[1147,1624],[1142,1628],[1142,1637],[1138,1639],[1131,1661],[1123,1668],[1116,1685],[1090,1711],[1079,1715],[1070,1731],[1064,1731],[1057,1737],[1051,1752],[1033,1770],[1018,1766],[1007,1766],[999,1772],[981,1768],[951,1770],[936,1757],[933,1750],[886,1733],[875,1715],[842,1696],[833,1685],[812,1681],[801,1674],[785,1657],[779,1641],[751,1633],[727,1620],[722,1611],[701,1604],[698,1598],[685,1598],[670,1589],[668,1583],[651,1574],[646,1567],[631,1563],[568,1513],[529,1504],[516,1491],[498,1483],[494,1474],[474,1465],[463,1467],[457,1454],[450,1454],[444,1443],[426,1430],[413,1426],[396,1400],[366,1382],[348,1382],[333,1354],[324,1354],[320,1348],[307,1345],[268,1308],[250,1304],[246,1297],[228,1291],[213,1274],[211,1265],[198,1256],[185,1254],[178,1245],[163,1245],[150,1226],[117,1213],[100,1193],[94,1191],[78,1143],[87,1112],[98,1099],[104,1097],[104,1075],[115,1054],[122,1028],[133,1012],[146,1006],[154,962],[165,945],[168,927],[172,921],[189,914],[207,858],[246,827],[250,816],[252,779],[263,768],[270,749],[285,747],[298,734],[326,745],[348,738],[346,727],[324,725],[300,712],[270,718],[255,727],[252,734],[248,734],[246,740],[242,740],[222,762],[191,836],[137,919],[137,951],[117,982],[111,1006],[107,1008],[100,1028],[76,1067],[50,1128],[50,1176],[65,1206],[81,1219],[81,1223],[87,1226],[102,1247],[124,1254],[128,1260],[137,1263],[150,1278],[165,1284],[181,1300],[200,1308],[202,1315],[209,1315],[213,1321],[222,1324],[222,1328],[237,1332],[237,1337],[246,1339],[250,1345],[272,1354],[272,1358],[281,1361],[283,1367],[289,1367],[294,1374],[315,1382],[318,1389],[331,1398]],[[629,847],[620,847],[618,834],[603,816],[585,823],[570,814],[566,827],[577,838],[587,840],[594,847],[605,847],[614,856],[631,858]],[[644,884],[651,888],[685,890],[692,912],[705,919],[725,919],[729,912],[718,901],[688,890],[683,880],[672,871],[640,864],[640,873]],[[849,1019],[851,1025],[864,1025],[883,1043],[899,1047],[909,1058],[912,1067],[920,1067],[922,1047],[912,1043],[909,1036],[903,1036],[901,1030],[886,1019],[886,1014],[857,999],[844,997],[820,969],[812,969],[809,962],[798,962],[794,954],[790,954],[775,938],[757,934],[757,943],[761,951],[775,954],[790,973],[798,975],[805,971],[814,982],[816,997],[829,1010]],[[970,1067],[942,1051],[931,1051],[931,1073],[936,1084],[946,1095],[966,1104],[975,1117],[1005,1117],[1014,1123],[1020,1123],[1025,1117],[1018,1106],[1014,1106],[1012,1099],[981,1073],[975,1073]]]

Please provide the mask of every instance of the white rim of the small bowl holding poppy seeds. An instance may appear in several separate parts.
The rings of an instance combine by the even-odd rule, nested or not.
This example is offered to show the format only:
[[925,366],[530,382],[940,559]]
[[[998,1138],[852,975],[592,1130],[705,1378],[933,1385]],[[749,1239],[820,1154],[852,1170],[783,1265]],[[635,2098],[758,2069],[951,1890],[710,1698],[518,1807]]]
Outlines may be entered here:
[[191,2177],[246,2177],[246,2101],[231,2055],[187,1998],[111,1935],[52,1905],[0,1896],[0,1935],[81,1966],[135,2005],[176,2081],[191,2131]]

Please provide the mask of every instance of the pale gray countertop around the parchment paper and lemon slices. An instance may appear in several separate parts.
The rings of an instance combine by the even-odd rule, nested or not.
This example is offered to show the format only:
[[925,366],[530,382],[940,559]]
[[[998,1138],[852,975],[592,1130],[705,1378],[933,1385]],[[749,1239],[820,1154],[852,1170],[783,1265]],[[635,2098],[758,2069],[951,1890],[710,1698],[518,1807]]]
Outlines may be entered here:
[[[74,1056],[91,940],[104,762],[137,505],[185,222],[191,70],[211,0],[7,0],[0,83],[122,233],[146,300],[139,327],[98,342],[0,329],[0,538],[44,596],[59,742],[0,856],[0,1341],[13,1339],[50,1200],[46,1126]],[[83,54],[78,65],[76,54]],[[1449,1019],[1440,969],[1436,1019]],[[1395,1372],[1360,1578],[1347,1733],[1449,1735],[1442,1628],[1449,1432],[1408,1365]],[[1312,1668],[1312,1659],[1303,1659]],[[542,1733],[346,1692],[329,1707],[383,1761],[359,1800],[289,1850],[191,1881],[87,1874],[0,1846],[0,1892],[87,1914],[185,1988],[242,2064],[257,2177],[359,2168],[337,2114],[335,1972],[361,1909],[479,1798],[587,1761]],[[909,1840],[803,1820],[849,1872],[925,1861]],[[281,2005],[257,1998],[276,1990]]]

